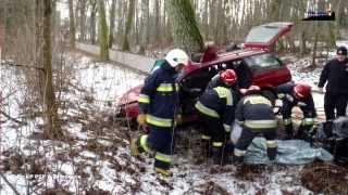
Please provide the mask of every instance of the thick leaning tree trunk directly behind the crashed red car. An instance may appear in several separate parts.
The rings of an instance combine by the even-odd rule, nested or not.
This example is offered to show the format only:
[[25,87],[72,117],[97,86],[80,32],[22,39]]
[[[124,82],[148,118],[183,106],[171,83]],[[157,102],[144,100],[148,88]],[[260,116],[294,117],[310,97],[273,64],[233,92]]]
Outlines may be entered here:
[[203,38],[198,29],[192,6],[187,0],[167,0],[167,13],[173,26],[174,42],[189,53],[203,51]]

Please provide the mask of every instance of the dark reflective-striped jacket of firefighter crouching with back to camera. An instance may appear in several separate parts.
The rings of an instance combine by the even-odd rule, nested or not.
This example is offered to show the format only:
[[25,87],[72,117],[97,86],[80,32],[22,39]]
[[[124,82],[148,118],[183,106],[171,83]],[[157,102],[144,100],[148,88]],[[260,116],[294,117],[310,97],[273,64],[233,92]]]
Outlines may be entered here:
[[236,122],[252,131],[274,130],[277,127],[272,103],[261,94],[249,94],[238,102]]

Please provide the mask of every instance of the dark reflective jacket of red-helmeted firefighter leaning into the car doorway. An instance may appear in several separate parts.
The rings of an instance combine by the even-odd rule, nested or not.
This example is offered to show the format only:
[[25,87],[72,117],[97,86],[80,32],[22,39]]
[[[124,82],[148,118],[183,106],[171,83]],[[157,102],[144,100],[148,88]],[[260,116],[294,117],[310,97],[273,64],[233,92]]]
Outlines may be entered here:
[[202,114],[220,118],[226,131],[231,131],[234,120],[233,90],[224,87],[207,89],[195,104],[195,107]]

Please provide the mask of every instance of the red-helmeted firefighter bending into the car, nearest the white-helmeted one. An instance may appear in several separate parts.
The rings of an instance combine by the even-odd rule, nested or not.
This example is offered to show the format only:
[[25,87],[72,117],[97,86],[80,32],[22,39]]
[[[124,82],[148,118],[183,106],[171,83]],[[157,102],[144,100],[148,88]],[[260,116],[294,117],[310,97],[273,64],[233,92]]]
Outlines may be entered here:
[[195,105],[199,119],[204,127],[201,136],[203,151],[209,153],[211,142],[215,165],[228,162],[228,155],[224,153],[224,147],[234,120],[234,92],[232,87],[237,81],[236,73],[233,69],[222,72],[220,78],[222,82],[216,87],[208,88]]

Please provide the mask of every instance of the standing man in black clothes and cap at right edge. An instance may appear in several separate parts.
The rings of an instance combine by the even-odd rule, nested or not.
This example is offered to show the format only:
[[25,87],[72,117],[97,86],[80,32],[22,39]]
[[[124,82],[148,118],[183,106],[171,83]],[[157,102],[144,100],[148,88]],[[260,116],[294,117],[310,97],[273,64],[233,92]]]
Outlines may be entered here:
[[[318,87],[323,91],[326,83],[324,96],[324,109],[326,122],[324,123],[325,133],[332,135],[333,120],[338,116],[346,116],[348,100],[348,58],[347,48],[337,48],[337,57],[327,62],[321,73]],[[336,109],[336,115],[335,115]]]

